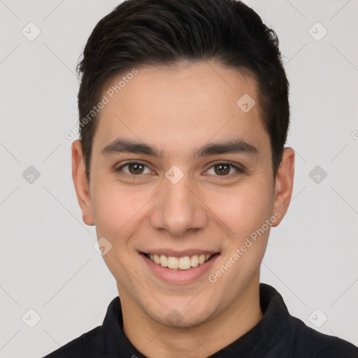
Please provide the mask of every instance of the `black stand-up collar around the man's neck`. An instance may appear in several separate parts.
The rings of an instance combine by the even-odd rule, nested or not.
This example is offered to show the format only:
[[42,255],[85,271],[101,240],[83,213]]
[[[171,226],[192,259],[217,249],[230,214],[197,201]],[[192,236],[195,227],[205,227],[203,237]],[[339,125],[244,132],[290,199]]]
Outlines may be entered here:
[[[264,317],[236,341],[210,356],[229,357],[276,357],[275,352],[285,352],[292,346],[296,326],[289,315],[282,296],[271,286],[260,283],[260,306]],[[103,341],[108,357],[145,358],[129,342],[123,332],[120,298],[110,302],[103,321]],[[272,352],[272,355],[270,354]]]

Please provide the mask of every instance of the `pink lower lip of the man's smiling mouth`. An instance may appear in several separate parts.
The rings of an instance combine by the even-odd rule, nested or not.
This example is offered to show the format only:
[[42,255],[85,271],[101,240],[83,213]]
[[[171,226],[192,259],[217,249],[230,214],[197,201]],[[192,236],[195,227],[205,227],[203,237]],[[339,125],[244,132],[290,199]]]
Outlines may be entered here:
[[199,264],[198,266],[188,268],[187,270],[173,270],[172,268],[163,267],[162,265],[156,264],[152,262],[151,259],[148,259],[143,254],[140,254],[144,262],[148,265],[150,270],[160,279],[175,284],[185,284],[189,282],[193,282],[205,275],[210,268],[215,263],[217,257],[220,254],[215,254],[208,261],[203,264]]

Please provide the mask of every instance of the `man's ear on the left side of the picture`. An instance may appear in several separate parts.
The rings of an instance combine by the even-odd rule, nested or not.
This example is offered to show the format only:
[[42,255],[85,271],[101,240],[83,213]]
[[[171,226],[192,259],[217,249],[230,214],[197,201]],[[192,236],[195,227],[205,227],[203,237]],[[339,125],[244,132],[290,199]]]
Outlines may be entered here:
[[83,157],[82,144],[79,140],[72,143],[71,152],[72,179],[76,189],[77,200],[82,210],[83,222],[87,225],[94,225],[90,185],[85,171],[85,158]]

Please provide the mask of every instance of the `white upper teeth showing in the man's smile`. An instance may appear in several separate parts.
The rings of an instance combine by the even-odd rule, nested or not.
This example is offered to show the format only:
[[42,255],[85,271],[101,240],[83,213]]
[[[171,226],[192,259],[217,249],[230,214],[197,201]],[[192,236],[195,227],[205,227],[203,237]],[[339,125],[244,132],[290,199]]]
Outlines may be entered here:
[[192,256],[184,256],[184,257],[173,257],[166,255],[155,255],[150,254],[150,259],[154,261],[156,264],[159,264],[163,267],[169,267],[181,270],[187,270],[190,267],[198,266],[199,264],[203,264],[204,262],[210,259],[210,254],[201,254],[201,255],[192,255]]

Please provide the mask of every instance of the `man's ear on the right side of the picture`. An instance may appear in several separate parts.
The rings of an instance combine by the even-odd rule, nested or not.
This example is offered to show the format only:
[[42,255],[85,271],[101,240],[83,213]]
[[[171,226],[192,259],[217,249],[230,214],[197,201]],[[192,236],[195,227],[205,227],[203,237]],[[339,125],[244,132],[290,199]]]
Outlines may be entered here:
[[291,201],[294,186],[294,150],[285,148],[282,161],[275,178],[274,213],[280,213],[278,220],[272,225],[277,227],[285,216]]

